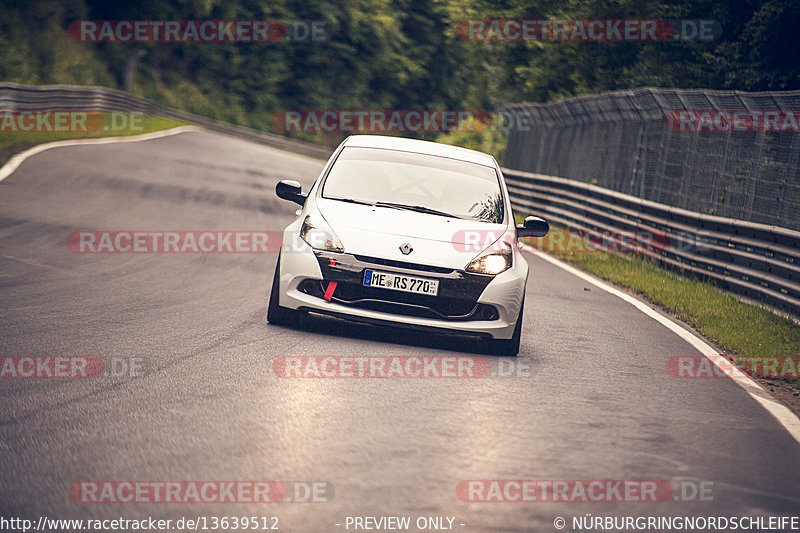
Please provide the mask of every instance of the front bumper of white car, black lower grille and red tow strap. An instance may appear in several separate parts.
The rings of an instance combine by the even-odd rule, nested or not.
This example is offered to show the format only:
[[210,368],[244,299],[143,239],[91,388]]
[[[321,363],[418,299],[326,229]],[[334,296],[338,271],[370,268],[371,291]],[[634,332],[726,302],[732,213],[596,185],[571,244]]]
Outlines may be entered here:
[[[496,276],[321,252],[297,244],[282,250],[280,262],[283,307],[357,322],[495,339],[511,338],[528,273],[519,252],[514,254],[512,268]],[[364,287],[366,269],[437,279],[439,294],[423,296]],[[331,282],[336,287],[326,298]]]

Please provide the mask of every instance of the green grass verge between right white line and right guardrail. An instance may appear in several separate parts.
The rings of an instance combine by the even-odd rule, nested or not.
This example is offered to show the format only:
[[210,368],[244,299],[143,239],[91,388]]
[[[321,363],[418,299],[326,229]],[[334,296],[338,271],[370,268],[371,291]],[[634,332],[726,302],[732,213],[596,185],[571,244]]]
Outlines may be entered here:
[[[631,289],[690,324],[736,359],[800,356],[800,326],[794,321],[743,302],[710,282],[680,276],[649,257],[553,246],[547,237],[539,241],[532,244]],[[800,380],[787,381],[800,385]]]

